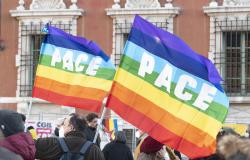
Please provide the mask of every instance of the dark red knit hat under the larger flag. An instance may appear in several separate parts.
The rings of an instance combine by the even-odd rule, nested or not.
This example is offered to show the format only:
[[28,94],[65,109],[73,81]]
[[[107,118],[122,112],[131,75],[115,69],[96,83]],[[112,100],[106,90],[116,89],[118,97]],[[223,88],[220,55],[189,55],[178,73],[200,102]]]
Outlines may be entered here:
[[142,142],[140,150],[141,150],[141,152],[150,154],[150,153],[158,152],[159,150],[161,150],[162,147],[163,147],[163,144],[156,141],[152,137],[148,136]]

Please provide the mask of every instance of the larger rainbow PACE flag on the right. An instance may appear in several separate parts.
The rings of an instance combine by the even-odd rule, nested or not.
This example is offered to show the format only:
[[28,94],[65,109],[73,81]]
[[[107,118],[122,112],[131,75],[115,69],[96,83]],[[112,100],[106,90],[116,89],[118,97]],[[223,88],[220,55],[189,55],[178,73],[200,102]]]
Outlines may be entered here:
[[136,16],[107,106],[159,142],[204,157],[228,112],[220,81],[207,58]]

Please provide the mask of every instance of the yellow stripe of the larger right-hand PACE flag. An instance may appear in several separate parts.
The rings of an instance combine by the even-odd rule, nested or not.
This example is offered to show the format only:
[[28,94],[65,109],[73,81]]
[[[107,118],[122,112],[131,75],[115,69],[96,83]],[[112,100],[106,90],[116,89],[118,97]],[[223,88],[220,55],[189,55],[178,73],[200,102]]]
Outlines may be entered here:
[[211,137],[216,138],[216,135],[222,126],[221,122],[170,97],[167,93],[156,89],[151,84],[141,80],[124,69],[118,69],[115,81],[151,101],[173,116],[206,132]]

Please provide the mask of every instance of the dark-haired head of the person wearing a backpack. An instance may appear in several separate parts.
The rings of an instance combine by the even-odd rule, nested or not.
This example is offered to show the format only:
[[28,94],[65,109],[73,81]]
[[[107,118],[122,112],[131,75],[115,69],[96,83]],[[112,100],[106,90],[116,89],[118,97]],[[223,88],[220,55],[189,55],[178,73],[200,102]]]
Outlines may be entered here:
[[63,122],[64,135],[71,131],[83,132],[86,127],[86,121],[77,114],[70,114]]

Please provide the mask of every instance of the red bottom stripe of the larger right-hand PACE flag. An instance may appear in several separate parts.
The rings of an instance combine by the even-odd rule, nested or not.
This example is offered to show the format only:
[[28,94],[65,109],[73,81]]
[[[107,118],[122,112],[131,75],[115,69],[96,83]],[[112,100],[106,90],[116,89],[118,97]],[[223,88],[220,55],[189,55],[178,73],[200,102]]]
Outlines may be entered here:
[[[177,136],[168,129],[162,127],[160,124],[154,122],[149,117],[136,111],[133,107],[122,103],[113,95],[109,98],[108,107],[113,109],[122,118],[126,117],[128,122],[144,130],[156,140],[182,151],[182,153],[189,157],[199,158],[211,155],[215,152],[215,147],[198,147],[195,143],[191,143]],[[215,144],[213,146],[215,146]],[[193,152],[190,152],[190,148],[192,148]]]

